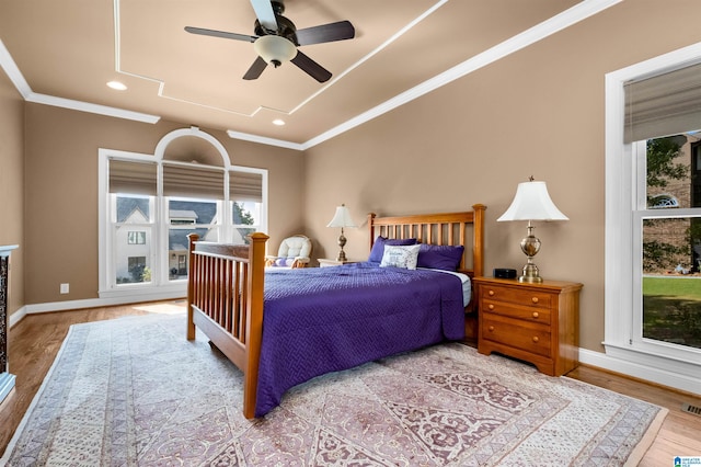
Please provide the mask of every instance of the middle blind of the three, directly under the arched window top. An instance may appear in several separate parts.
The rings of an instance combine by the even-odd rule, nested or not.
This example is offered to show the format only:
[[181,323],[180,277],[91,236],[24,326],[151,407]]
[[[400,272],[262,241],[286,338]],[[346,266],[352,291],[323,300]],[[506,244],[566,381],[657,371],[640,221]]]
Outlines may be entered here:
[[164,163],[163,195],[223,200],[223,171]]

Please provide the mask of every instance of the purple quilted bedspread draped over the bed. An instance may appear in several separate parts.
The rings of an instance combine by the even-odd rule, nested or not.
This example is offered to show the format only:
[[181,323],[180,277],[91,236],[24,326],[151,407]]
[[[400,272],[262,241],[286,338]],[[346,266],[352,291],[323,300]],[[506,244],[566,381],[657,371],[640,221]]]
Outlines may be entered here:
[[463,337],[451,274],[372,263],[266,272],[255,415],[315,376]]

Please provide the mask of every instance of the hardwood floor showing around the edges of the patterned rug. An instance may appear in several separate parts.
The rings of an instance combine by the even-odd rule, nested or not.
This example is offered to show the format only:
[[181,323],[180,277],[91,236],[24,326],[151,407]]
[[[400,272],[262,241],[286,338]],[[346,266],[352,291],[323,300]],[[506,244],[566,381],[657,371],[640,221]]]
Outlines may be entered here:
[[[183,306],[184,301],[30,315],[10,329],[9,363],[10,372],[16,375],[16,385],[0,405],[0,456],[54,363],[71,324],[158,312],[159,307],[166,304]],[[675,456],[701,456],[701,417],[681,410],[685,402],[701,407],[700,397],[587,366],[579,366],[567,376],[669,409],[640,466],[671,466]]]

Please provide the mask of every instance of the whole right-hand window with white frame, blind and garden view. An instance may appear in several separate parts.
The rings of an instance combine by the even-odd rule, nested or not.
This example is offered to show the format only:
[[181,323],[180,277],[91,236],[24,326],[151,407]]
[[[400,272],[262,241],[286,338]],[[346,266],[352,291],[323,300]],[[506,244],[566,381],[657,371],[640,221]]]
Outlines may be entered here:
[[701,44],[607,76],[604,343],[634,376],[688,390],[701,377],[698,64]]

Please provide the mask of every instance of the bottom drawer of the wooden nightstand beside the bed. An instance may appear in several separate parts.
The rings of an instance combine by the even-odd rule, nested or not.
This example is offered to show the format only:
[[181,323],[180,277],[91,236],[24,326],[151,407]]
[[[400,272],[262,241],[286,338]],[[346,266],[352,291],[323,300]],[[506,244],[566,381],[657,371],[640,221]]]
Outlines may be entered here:
[[524,321],[490,314],[484,314],[481,318],[483,322],[480,338],[521,349],[532,354],[551,356],[549,328],[538,324],[529,326]]

